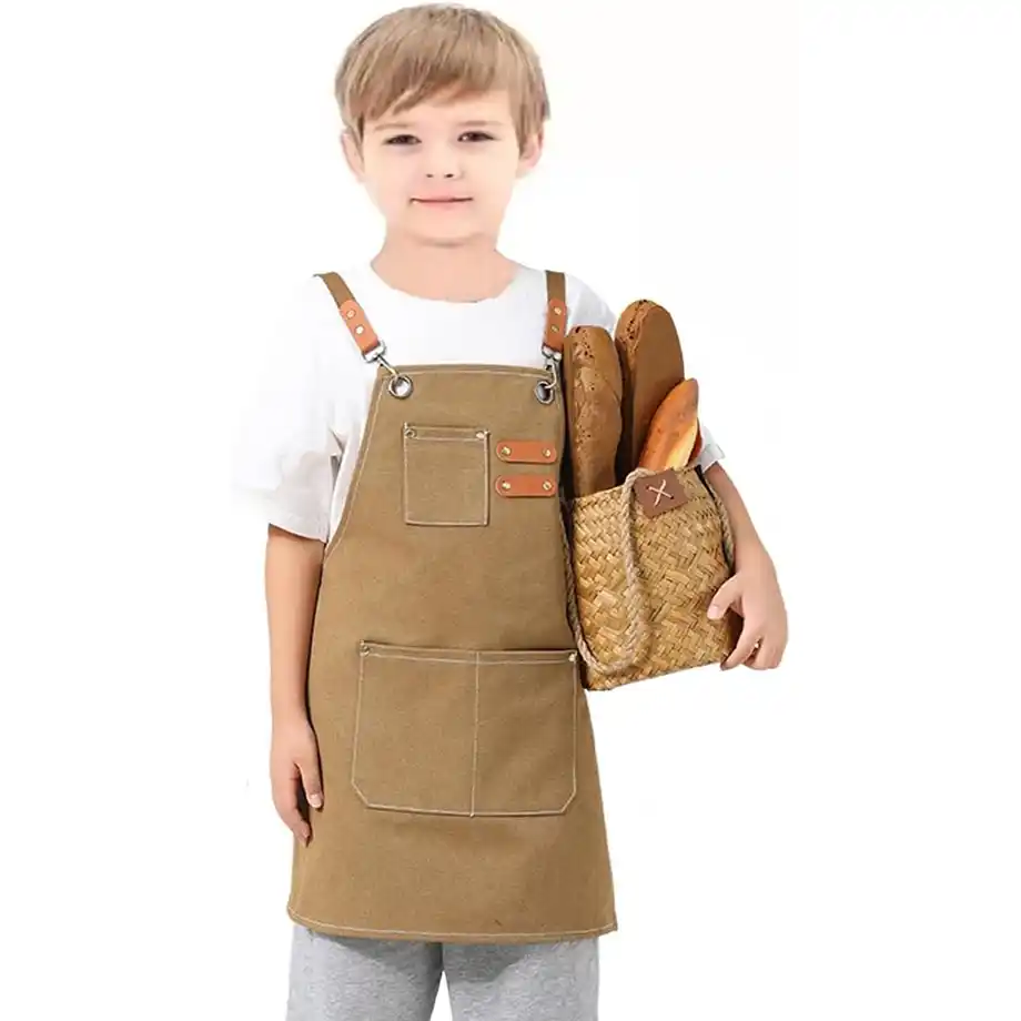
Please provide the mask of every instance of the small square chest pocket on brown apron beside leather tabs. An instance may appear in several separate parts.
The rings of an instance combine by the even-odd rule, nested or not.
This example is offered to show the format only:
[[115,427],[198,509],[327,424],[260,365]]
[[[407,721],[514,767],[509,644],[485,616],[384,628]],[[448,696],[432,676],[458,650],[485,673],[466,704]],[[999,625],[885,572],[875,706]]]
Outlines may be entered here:
[[488,438],[482,426],[405,423],[405,524],[488,524]]

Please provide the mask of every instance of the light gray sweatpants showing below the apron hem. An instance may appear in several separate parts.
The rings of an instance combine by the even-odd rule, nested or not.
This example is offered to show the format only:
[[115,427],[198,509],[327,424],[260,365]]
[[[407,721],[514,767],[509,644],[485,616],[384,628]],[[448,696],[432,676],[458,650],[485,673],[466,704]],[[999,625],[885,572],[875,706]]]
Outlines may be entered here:
[[443,973],[453,1021],[597,1021],[598,937],[434,943],[296,923],[286,1021],[429,1021]]

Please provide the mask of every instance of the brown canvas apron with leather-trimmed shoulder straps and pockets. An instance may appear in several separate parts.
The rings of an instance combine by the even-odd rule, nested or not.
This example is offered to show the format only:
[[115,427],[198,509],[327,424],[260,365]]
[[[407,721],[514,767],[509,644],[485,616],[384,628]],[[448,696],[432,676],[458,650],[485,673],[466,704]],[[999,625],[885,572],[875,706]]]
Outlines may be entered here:
[[287,913],[380,939],[609,932],[559,520],[564,276],[547,273],[538,368],[391,366],[340,276],[320,275],[378,364],[324,552],[307,688],[324,805],[294,841]]

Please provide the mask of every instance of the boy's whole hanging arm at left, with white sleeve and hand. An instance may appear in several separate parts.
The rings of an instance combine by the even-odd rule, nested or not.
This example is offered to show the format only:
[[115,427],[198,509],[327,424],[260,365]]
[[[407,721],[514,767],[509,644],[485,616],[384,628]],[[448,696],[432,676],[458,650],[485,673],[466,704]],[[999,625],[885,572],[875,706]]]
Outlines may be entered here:
[[[273,803],[306,842],[323,805],[315,732],[307,712],[307,667],[334,467],[345,436],[336,417],[337,373],[326,353],[343,325],[322,281],[310,276],[279,310],[254,400],[236,435],[235,492],[269,526],[265,597],[270,637]],[[327,367],[328,366],[328,367]],[[343,383],[343,378],[341,380]]]

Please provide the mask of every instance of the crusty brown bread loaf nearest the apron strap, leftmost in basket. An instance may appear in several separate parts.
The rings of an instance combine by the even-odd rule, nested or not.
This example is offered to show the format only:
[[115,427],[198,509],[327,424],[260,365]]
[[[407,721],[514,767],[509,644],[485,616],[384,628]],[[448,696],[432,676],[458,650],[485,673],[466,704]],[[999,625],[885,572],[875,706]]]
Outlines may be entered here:
[[564,338],[573,496],[616,485],[623,382],[614,338],[602,326],[576,326]]

